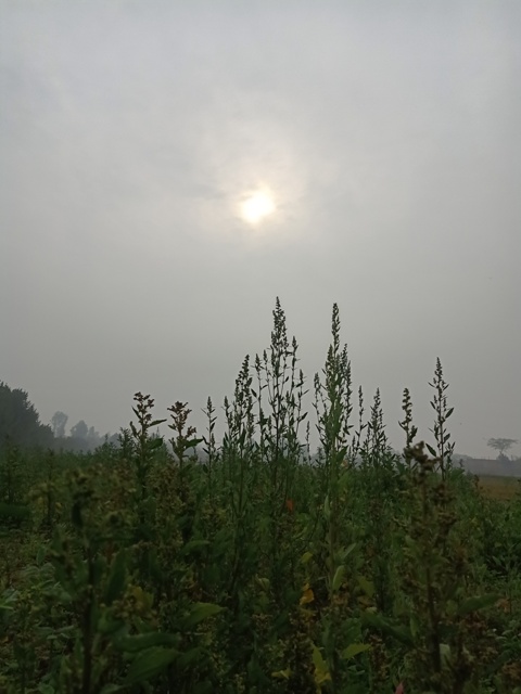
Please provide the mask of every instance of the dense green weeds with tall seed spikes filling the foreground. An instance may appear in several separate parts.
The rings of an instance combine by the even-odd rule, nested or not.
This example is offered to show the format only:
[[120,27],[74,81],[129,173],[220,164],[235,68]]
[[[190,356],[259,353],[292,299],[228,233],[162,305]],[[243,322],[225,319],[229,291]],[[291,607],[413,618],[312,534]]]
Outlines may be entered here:
[[521,692],[521,500],[453,468],[440,361],[432,445],[406,389],[397,455],[333,307],[310,455],[296,352],[277,301],[220,445],[209,399],[204,436],[176,402],[167,441],[137,394],[118,447],[7,451],[1,692]]

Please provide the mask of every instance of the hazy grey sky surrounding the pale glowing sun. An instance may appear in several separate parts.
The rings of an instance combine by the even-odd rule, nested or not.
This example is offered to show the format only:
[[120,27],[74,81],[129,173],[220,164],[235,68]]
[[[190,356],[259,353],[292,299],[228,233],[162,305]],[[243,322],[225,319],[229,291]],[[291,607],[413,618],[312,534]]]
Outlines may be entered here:
[[0,15],[0,381],[43,422],[115,432],[142,390],[201,425],[279,296],[309,387],[339,304],[396,447],[404,386],[429,436],[436,357],[458,451],[521,440],[519,0]]

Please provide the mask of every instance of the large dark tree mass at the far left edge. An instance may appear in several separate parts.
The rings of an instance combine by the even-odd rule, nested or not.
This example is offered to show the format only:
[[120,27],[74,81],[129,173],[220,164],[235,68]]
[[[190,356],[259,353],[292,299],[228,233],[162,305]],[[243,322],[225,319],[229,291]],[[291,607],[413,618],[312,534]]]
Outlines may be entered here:
[[52,446],[52,429],[40,423],[29,397],[21,388],[11,389],[0,382],[0,448],[5,444],[22,447]]

